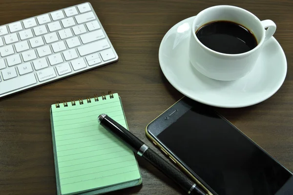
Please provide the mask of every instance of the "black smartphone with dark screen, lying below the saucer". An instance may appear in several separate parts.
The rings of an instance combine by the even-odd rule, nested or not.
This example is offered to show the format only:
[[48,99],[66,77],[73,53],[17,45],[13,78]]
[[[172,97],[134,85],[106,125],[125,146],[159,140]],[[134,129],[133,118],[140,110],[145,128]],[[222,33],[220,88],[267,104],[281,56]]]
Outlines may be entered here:
[[181,98],[146,136],[209,195],[293,195],[293,174],[210,106]]

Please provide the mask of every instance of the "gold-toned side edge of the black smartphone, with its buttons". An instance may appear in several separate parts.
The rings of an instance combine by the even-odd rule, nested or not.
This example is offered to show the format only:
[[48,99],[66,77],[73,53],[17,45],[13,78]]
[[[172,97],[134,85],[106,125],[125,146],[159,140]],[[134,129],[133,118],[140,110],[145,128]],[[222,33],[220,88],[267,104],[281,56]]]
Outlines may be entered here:
[[[184,97],[182,97],[184,98]],[[173,105],[171,105],[169,108],[171,108],[172,106],[174,106],[177,102],[179,102],[182,98],[180,98],[178,101],[176,101]],[[169,108],[167,108],[163,113],[161,113],[158,117],[160,117],[161,115],[163,115]],[[163,150],[163,152],[165,152],[170,158],[171,160],[176,162],[176,165],[180,168],[180,170],[182,170],[185,174],[187,174],[197,185],[199,185],[201,188],[203,188],[208,195],[213,195],[211,192],[209,192],[209,190],[197,179],[195,178],[178,160],[176,160],[176,158],[174,156],[172,156],[167,150],[165,150],[165,148],[159,143],[157,142],[148,132],[147,132],[147,126],[153,122],[155,119],[157,119],[158,117],[154,118],[152,121],[150,121],[147,125],[146,125],[146,137],[148,137],[156,146],[159,147],[159,149]]]

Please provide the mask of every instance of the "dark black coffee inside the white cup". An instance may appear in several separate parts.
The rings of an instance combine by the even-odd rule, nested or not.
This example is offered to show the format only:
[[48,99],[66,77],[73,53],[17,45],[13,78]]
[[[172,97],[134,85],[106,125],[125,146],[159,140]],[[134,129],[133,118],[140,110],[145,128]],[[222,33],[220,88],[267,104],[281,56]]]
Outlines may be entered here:
[[207,23],[195,34],[205,46],[225,54],[241,54],[257,46],[250,30],[231,21]]

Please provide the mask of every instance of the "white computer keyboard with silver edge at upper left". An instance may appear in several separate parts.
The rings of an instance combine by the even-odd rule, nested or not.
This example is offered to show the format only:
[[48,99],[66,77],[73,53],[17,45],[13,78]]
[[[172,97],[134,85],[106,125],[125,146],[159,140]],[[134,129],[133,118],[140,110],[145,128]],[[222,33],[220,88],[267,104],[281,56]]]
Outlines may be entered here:
[[90,3],[0,26],[0,98],[118,60]]

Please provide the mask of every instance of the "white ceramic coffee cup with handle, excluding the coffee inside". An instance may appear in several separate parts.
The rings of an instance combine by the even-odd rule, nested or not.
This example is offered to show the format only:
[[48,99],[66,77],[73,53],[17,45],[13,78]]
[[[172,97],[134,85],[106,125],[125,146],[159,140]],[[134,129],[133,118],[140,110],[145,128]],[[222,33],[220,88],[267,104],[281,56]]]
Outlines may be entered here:
[[[241,54],[224,54],[209,49],[196,37],[195,32],[203,25],[218,20],[236,22],[248,28],[257,40],[257,46]],[[265,28],[268,28],[267,30]],[[217,80],[235,80],[253,69],[264,42],[276,30],[272,20],[260,21],[251,12],[230,5],[218,5],[201,11],[194,19],[189,42],[189,60],[201,74]]]

